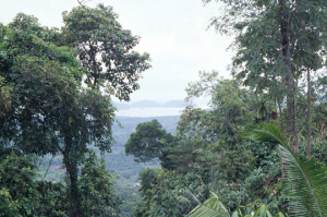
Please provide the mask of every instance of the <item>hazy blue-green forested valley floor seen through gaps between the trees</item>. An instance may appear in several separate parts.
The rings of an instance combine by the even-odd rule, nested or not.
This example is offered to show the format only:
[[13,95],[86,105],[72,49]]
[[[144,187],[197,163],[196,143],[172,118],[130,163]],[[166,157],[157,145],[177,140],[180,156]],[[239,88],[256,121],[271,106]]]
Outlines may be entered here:
[[[130,134],[135,132],[137,124],[152,121],[153,119],[157,119],[162,124],[165,130],[174,134],[180,117],[117,117],[117,120],[123,128],[120,128],[118,123],[114,123],[112,126],[112,136],[116,143],[112,145],[112,152],[105,155],[105,164],[108,171],[118,176],[118,180],[116,181],[116,191],[117,194],[121,196],[122,201],[131,200],[133,194],[134,197],[138,197],[138,173],[144,167],[159,167],[159,160],[153,160],[150,162],[135,162],[134,156],[126,156],[124,150],[124,144],[129,140]],[[43,174],[46,172],[50,160],[51,156],[45,157],[43,162],[45,165]],[[61,167],[62,158],[55,157],[46,179],[52,182],[62,181],[64,172]],[[122,210],[124,213],[129,213],[128,207],[123,206]]]

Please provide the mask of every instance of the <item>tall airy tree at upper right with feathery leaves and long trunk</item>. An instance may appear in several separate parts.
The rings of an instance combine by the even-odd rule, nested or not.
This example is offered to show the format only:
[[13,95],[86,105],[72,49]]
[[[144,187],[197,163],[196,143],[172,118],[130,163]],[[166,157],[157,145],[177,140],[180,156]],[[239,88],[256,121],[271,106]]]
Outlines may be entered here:
[[[208,3],[210,0],[204,0]],[[318,39],[320,45],[326,35],[326,1],[278,0],[278,1],[227,1],[222,15],[214,17],[211,24],[220,33],[235,34],[233,47],[233,74],[244,84],[266,89],[267,83],[286,88],[288,134],[290,145],[299,152],[296,129],[296,48],[314,56],[320,46],[308,47],[300,41]],[[312,15],[314,14],[314,15]],[[303,34],[311,33],[311,34]],[[299,52],[298,52],[299,53]],[[301,57],[300,52],[300,57]],[[304,56],[302,57],[304,59]],[[304,62],[300,62],[305,67]],[[298,61],[299,64],[299,61]],[[281,95],[280,98],[283,98]]]

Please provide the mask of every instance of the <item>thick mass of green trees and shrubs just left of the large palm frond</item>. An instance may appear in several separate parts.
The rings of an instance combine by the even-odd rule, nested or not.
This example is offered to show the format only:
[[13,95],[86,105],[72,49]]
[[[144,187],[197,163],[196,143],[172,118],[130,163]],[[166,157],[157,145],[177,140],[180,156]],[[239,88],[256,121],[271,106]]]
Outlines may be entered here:
[[209,197],[209,190],[221,195],[228,215],[240,207],[251,214],[265,203],[272,212],[286,210],[283,192],[276,184],[278,149],[241,136],[244,124],[255,121],[255,106],[261,100],[253,99],[238,81],[218,79],[217,72],[201,73],[201,81],[190,84],[187,93],[191,100],[209,94],[211,109],[185,108],[175,146],[168,147],[171,171],[147,169],[141,173],[144,200],[136,216],[183,216],[196,206],[208,212],[211,208],[198,204]]

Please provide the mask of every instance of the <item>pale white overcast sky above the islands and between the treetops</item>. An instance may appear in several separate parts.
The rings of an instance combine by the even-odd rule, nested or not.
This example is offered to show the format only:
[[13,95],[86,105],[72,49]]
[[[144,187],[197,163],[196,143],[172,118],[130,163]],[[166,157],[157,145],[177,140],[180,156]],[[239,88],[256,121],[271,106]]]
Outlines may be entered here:
[[[0,0],[0,22],[8,24],[19,13],[34,15],[43,26],[61,27],[63,11],[77,7],[77,0]],[[131,95],[132,103],[155,100],[165,104],[184,99],[190,82],[199,71],[227,70],[232,52],[226,49],[232,38],[208,28],[210,17],[219,14],[219,4],[204,5],[202,0],[92,0],[113,7],[124,29],[141,37],[134,50],[148,52],[152,68],[143,72],[141,88]],[[113,99],[118,101],[118,99]],[[196,101],[195,101],[196,103]],[[199,99],[198,104],[202,103]]]

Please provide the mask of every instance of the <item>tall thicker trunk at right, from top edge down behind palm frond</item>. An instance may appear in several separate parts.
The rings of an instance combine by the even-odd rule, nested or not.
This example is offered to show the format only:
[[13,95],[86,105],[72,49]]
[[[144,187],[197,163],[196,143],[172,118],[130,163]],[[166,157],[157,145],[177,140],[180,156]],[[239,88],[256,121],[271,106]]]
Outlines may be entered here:
[[292,62],[290,53],[290,19],[287,15],[286,10],[286,0],[279,0],[280,5],[280,32],[282,37],[281,50],[282,57],[284,59],[286,65],[286,76],[284,83],[287,86],[287,112],[289,119],[289,136],[290,145],[294,153],[299,153],[299,142],[298,142],[298,130],[296,130],[296,117],[295,117],[295,103],[294,103],[294,80],[292,72]]

